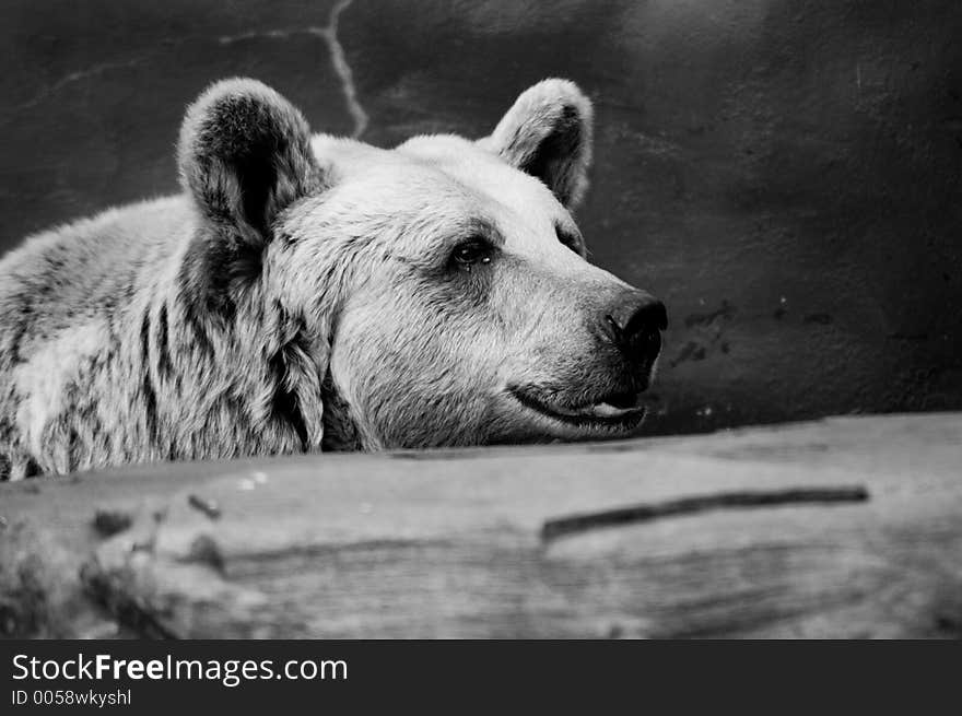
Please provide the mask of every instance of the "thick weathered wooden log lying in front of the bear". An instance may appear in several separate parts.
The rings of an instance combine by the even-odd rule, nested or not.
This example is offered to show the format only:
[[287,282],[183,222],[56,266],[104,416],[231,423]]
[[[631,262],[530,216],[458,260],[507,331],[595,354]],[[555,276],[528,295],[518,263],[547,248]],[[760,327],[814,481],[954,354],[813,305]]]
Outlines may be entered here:
[[60,636],[958,637],[960,466],[962,414],[926,414],[3,484],[0,606]]

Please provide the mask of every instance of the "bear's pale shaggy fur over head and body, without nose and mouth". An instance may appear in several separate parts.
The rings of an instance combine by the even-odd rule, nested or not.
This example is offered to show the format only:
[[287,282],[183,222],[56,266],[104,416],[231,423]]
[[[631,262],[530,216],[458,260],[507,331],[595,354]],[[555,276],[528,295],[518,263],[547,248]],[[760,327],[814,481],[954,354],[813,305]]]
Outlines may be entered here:
[[577,406],[654,368],[599,328],[631,290],[568,213],[590,141],[560,80],[478,142],[391,151],[312,137],[253,80],[213,85],[184,120],[183,195],[0,261],[0,477],[618,433],[511,395]]

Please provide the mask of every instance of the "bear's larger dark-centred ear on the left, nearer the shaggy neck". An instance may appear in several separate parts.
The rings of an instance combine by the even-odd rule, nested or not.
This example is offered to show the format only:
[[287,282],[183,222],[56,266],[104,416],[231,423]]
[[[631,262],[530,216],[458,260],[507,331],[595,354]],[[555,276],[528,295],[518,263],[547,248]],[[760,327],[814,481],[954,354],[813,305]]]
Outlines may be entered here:
[[278,213],[321,185],[301,113],[256,80],[224,80],[190,105],[180,128],[180,181],[210,222],[251,248]]

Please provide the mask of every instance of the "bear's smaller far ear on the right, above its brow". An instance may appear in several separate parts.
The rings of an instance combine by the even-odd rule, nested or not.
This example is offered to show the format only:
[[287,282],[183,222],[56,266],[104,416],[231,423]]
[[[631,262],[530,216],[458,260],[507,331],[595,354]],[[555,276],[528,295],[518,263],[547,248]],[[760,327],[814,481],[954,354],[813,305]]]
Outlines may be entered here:
[[588,188],[594,110],[574,82],[543,80],[526,90],[490,137],[479,140],[517,169],[535,176],[565,207]]

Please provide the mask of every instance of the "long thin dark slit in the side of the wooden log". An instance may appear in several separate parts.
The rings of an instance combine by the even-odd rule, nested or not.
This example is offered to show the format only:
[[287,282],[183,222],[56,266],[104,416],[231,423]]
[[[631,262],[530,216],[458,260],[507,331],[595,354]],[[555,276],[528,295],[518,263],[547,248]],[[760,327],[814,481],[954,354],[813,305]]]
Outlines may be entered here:
[[647,503],[549,519],[541,527],[544,541],[603,527],[645,523],[662,517],[692,515],[712,509],[742,507],[773,507],[797,504],[831,504],[866,502],[868,490],[861,485],[843,488],[798,488],[793,490],[723,492],[697,497],[682,497],[666,502]]

